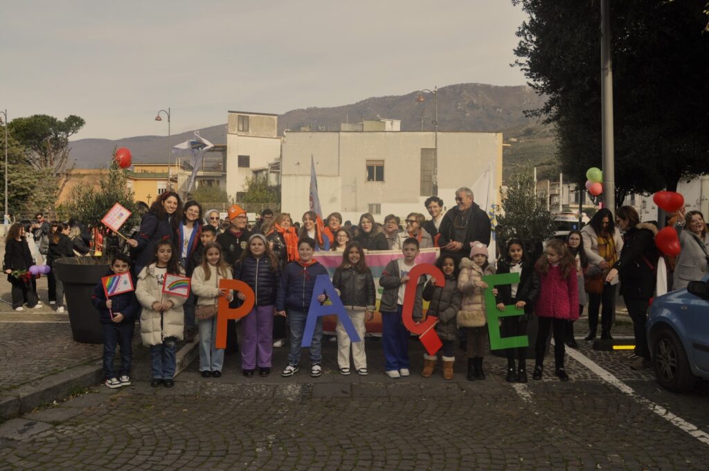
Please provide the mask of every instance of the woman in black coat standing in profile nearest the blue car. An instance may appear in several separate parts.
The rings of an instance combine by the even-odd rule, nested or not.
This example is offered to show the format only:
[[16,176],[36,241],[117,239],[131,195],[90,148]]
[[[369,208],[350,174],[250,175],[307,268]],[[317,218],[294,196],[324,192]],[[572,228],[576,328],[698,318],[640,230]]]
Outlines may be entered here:
[[615,222],[620,231],[626,231],[623,250],[620,250],[620,258],[605,280],[610,282],[615,275],[620,277],[620,294],[623,295],[627,314],[632,319],[635,353],[640,357],[630,367],[633,370],[644,370],[652,366],[646,326],[647,307],[654,294],[657,272],[657,227],[650,223],[640,223],[640,216],[632,206],[618,209]]

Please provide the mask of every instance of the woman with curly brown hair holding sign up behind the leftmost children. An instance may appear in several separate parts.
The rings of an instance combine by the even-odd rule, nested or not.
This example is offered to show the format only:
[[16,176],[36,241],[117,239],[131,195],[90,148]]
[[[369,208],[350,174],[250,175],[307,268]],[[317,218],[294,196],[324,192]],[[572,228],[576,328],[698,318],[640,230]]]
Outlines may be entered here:
[[150,263],[159,241],[167,240],[172,243],[172,250],[177,250],[174,238],[181,216],[182,200],[175,192],[164,192],[150,205],[150,210],[140,221],[138,235],[128,239],[130,255],[135,260],[135,275]]

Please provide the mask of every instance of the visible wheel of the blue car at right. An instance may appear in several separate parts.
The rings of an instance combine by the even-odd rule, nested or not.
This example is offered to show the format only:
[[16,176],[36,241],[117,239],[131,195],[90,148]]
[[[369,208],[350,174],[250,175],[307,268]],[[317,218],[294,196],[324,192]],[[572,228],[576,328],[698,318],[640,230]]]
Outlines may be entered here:
[[671,392],[688,392],[696,383],[681,341],[669,328],[654,336],[652,346],[657,382]]

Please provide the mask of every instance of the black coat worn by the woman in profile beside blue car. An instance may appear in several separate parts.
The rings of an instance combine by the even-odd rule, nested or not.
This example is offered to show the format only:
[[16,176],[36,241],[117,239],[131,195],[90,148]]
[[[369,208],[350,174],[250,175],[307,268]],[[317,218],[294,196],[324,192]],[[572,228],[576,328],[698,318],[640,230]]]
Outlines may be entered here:
[[652,298],[655,290],[655,270],[658,253],[655,248],[657,228],[640,223],[623,237],[623,250],[613,268],[620,277],[620,294],[631,298]]

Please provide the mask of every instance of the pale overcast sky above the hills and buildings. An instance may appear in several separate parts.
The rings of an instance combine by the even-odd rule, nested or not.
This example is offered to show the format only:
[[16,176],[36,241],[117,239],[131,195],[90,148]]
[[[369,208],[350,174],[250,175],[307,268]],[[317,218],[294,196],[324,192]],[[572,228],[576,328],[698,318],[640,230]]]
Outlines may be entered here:
[[4,1],[0,109],[166,135],[435,85],[525,83],[509,0]]

